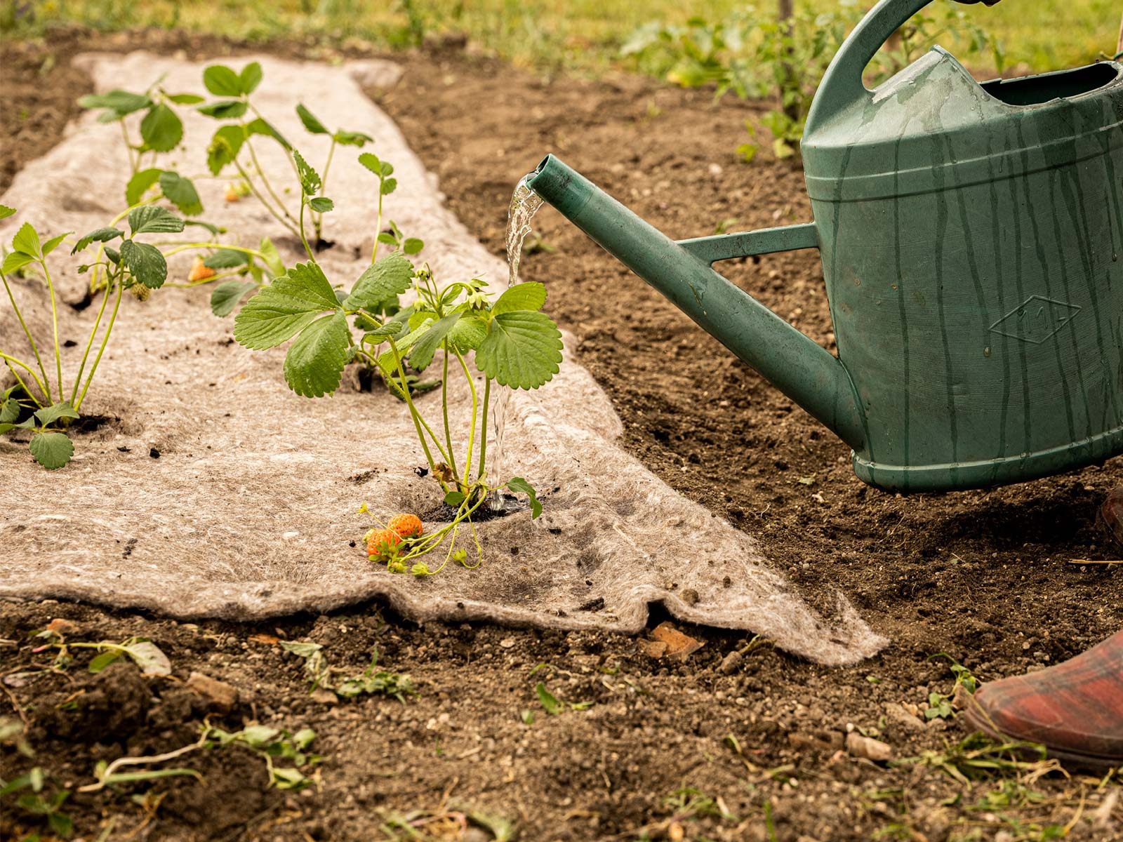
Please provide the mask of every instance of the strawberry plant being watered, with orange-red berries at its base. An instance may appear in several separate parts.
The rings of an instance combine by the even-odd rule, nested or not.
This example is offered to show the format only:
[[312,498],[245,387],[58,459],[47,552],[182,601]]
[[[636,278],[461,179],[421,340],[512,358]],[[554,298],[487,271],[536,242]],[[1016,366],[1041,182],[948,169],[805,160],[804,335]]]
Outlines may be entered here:
[[[302,221],[305,209],[314,207],[322,179],[296,153],[294,161]],[[393,167],[371,153],[363,153],[359,161],[378,180],[381,229],[381,196],[395,186]],[[392,249],[381,258],[380,244]],[[453,514],[430,534],[422,534],[409,518],[395,519],[405,534],[380,524],[385,534],[383,541],[372,543],[369,557],[385,561],[392,571],[423,576],[439,571],[453,558],[467,564],[466,551],[456,547],[462,525],[472,531],[478,564],[483,550],[472,519],[500,488],[526,493],[533,515],[541,511],[535,489],[524,479],[497,483],[489,477],[486,419],[496,390],[538,388],[554,377],[562,361],[562,335],[541,312],[546,303],[542,284],[517,284],[493,299],[480,278],[438,282],[428,265],[416,266],[410,259],[409,253],[418,250],[420,240],[403,238],[396,226],[391,225],[389,232],[380,230],[369,265],[345,292],[332,286],[309,249],[307,263],[292,266],[246,302],[235,318],[234,337],[257,350],[291,340],[283,370],[289,387],[299,395],[334,393],[344,368],[359,360],[378,370],[390,391],[405,403],[428,474],[440,485]],[[416,301],[402,308],[399,296],[407,293]],[[413,400],[416,390],[407,369],[424,372],[438,357],[441,405],[435,427]],[[449,412],[450,376],[463,377],[471,394],[471,414],[464,429],[456,431],[459,434],[454,433]],[[360,511],[369,510],[364,505]],[[430,569],[420,560],[449,538],[439,567]]]

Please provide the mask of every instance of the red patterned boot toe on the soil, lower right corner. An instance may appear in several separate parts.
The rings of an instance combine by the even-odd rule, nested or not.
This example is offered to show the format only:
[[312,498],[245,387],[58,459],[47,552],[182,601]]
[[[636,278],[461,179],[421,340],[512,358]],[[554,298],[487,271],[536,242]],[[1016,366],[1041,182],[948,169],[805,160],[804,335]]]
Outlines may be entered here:
[[1062,663],[983,685],[966,717],[1072,766],[1123,767],[1123,631]]

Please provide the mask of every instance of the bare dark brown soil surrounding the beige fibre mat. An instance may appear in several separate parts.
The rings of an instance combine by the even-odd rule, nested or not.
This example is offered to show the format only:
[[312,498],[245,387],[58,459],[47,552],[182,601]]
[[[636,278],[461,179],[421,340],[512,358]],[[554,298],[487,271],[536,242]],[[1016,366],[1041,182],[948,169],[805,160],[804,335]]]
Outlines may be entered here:
[[[139,44],[201,54],[241,46],[177,33],[71,33],[0,47],[0,132],[8,138],[0,187],[58,139],[88,88],[65,56]],[[287,55],[325,53],[283,46]],[[40,72],[51,54],[57,61]],[[380,102],[439,174],[453,209],[496,253],[511,190],[547,152],[673,237],[811,218],[796,166],[766,152],[751,166],[738,162],[742,122],[758,110],[751,104],[623,75],[546,82],[463,54],[402,61],[403,81]],[[152,638],[174,672],[141,678],[124,662],[88,676],[82,650],[65,674],[9,679],[3,689],[28,722],[36,757],[4,747],[0,777],[38,765],[74,790],[93,779],[100,760],[192,742],[207,705],[184,681],[199,671],[239,692],[232,711],[211,714],[212,724],[314,729],[313,749],[325,757],[317,786],[267,788],[263,763],[245,749],[198,752],[181,762],[204,784],[175,778],[72,794],[64,811],[79,835],[92,840],[112,822],[110,840],[489,839],[440,830],[467,805],[505,817],[536,842],[1022,840],[1053,838],[1043,829],[1069,822],[1069,838],[1123,839],[1123,808],[1115,808],[1114,830],[1092,825],[1113,787],[1098,779],[1054,772],[1015,784],[1007,774],[1004,784],[961,786],[933,754],[928,765],[885,766],[838,751],[850,727],[878,734],[897,758],[947,753],[967,736],[955,719],[923,725],[887,714],[887,706],[922,705],[930,692],[950,689],[947,660],[934,653],[986,680],[1068,658],[1123,625],[1117,568],[1071,564],[1116,552],[1095,511],[1123,482],[1119,460],[990,492],[902,497],[866,487],[843,445],[559,216],[544,210],[536,229],[541,240],[523,260],[523,277],[547,284],[547,308],[576,336],[569,351],[611,395],[627,447],[683,494],[759,536],[813,603],[829,607],[841,588],[891,647],[857,667],[825,669],[766,646],[727,672],[722,659],[743,641],[705,629],[685,629],[705,646],[669,661],[629,638],[418,628],[377,605],[246,626],[6,604],[2,675],[49,663],[51,653],[31,652],[28,635],[55,617],[77,624],[71,640]],[[814,253],[723,269],[831,346]],[[380,668],[409,672],[418,694],[405,704],[311,695],[301,660],[273,638],[321,643],[348,675],[377,651]],[[538,681],[564,702],[592,706],[549,715]],[[531,724],[523,711],[533,712]],[[1002,787],[1013,803],[979,800]],[[1026,798],[1029,790],[1041,798]],[[8,805],[13,827],[38,826]],[[392,830],[395,813],[416,811],[448,824],[430,823],[428,836]]]

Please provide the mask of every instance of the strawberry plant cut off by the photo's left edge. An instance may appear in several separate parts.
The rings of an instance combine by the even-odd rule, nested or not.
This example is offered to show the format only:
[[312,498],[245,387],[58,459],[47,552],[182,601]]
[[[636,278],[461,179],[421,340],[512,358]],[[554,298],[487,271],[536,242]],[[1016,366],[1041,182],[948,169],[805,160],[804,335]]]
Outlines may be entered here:
[[[0,219],[15,212],[13,208],[0,205]],[[122,218],[127,218],[128,231],[116,227]],[[16,379],[16,386],[3,392],[3,400],[0,401],[0,433],[13,430],[30,431],[28,447],[31,456],[45,468],[61,468],[74,454],[74,443],[63,429],[79,418],[82,403],[117,323],[122,294],[127,290],[140,301],[145,301],[152,291],[163,286],[167,278],[164,254],[156,246],[138,238],[153,234],[182,231],[183,227],[183,219],[171,211],[141,205],[117,217],[112,225],[79,238],[71,250],[72,255],[93,242],[101,245],[102,250],[94,264],[80,266],[79,272],[86,272],[93,266],[100,267],[104,273],[106,294],[90,329],[82,360],[69,387],[63,377],[62,345],[58,341],[58,296],[46,258],[72,232],[60,234],[44,241],[30,222],[25,222],[16,231],[11,250],[0,265],[0,281],[3,282],[8,302],[24,330],[35,365],[0,348],[0,359]],[[9,283],[9,277],[17,273],[22,277],[33,275],[46,285],[53,326],[49,338],[39,337],[37,341],[31,335]],[[98,333],[111,298],[113,308],[99,341]],[[98,350],[91,361],[90,354],[94,345],[98,345]],[[54,363],[53,366],[44,363],[40,347],[49,347],[53,350],[54,359],[51,360]],[[88,364],[89,370],[86,370]]]

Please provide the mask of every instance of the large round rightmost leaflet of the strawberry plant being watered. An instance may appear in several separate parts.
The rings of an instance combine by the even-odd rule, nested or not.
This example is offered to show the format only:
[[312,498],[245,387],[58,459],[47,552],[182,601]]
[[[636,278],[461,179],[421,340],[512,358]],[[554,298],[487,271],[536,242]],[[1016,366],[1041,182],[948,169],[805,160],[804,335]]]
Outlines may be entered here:
[[500,313],[476,349],[476,366],[502,386],[538,388],[562,363],[562,331],[546,313]]

